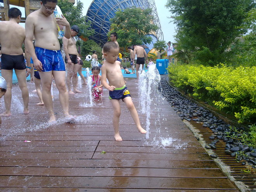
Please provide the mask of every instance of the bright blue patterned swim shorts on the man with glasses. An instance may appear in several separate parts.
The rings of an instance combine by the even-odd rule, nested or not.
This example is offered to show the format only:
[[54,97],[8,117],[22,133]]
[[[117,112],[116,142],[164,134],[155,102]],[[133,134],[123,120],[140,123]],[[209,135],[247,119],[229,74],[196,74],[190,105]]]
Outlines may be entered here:
[[61,50],[48,50],[45,48],[35,48],[36,57],[42,62],[43,71],[65,71]]

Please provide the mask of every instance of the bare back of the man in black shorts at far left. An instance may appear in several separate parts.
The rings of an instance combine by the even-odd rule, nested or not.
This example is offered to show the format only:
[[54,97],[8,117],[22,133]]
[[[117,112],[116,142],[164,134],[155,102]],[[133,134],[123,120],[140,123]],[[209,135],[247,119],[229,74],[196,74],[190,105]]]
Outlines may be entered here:
[[13,21],[0,22],[0,43],[2,54],[23,54],[22,43],[25,39],[25,28]]

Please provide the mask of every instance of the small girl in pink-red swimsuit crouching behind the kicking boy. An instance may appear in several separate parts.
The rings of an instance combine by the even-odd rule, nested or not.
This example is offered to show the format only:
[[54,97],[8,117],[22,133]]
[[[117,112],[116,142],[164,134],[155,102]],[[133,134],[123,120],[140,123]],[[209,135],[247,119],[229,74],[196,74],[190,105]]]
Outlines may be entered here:
[[100,67],[94,66],[92,67],[92,94],[93,98],[101,98],[103,95],[102,93],[102,84],[101,84],[101,76],[100,74]]

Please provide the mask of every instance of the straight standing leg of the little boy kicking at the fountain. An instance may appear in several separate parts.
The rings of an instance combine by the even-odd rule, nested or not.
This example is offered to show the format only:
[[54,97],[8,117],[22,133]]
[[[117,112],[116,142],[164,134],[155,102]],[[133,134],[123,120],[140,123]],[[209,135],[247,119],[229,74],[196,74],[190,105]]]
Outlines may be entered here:
[[120,107],[120,103],[119,100],[117,99],[111,99],[111,104],[113,107],[113,126],[114,126],[114,138],[116,139],[116,141],[122,141],[122,137],[119,134],[119,119],[120,119],[120,115],[121,115],[121,107]]

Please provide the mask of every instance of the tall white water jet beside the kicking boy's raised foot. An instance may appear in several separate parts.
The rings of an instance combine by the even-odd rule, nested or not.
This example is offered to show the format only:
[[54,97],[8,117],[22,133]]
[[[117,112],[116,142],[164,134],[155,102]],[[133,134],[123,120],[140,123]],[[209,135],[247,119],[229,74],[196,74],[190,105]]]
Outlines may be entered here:
[[[141,67],[142,70],[142,67]],[[149,138],[149,126],[150,126],[150,112],[151,112],[151,102],[154,100],[159,100],[160,94],[158,93],[158,84],[160,83],[161,76],[156,69],[156,64],[150,65],[147,73],[139,71],[139,98],[140,98],[140,107],[142,108],[142,113],[146,114],[146,139]],[[153,102],[157,105],[159,102]],[[154,112],[159,107],[156,106]],[[160,116],[159,116],[160,118]],[[160,128],[158,130],[160,132]]]

